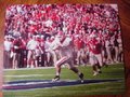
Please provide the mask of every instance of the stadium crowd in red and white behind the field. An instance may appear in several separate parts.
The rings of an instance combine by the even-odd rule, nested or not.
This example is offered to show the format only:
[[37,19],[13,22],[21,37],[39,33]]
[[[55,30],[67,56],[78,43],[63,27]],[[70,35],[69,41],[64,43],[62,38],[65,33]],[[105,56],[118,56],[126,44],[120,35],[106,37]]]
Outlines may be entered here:
[[72,39],[75,65],[123,61],[118,11],[110,4],[17,4],[6,9],[4,68],[53,66],[60,56],[51,44],[62,33]]

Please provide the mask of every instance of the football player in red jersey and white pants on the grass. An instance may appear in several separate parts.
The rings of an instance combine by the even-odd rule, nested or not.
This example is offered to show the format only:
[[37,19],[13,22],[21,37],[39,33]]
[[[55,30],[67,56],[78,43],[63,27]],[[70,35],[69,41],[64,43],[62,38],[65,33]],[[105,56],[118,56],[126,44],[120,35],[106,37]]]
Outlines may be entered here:
[[101,73],[101,67],[103,66],[102,58],[102,44],[96,39],[95,34],[90,36],[89,51],[90,51],[90,64],[93,68],[93,75]]

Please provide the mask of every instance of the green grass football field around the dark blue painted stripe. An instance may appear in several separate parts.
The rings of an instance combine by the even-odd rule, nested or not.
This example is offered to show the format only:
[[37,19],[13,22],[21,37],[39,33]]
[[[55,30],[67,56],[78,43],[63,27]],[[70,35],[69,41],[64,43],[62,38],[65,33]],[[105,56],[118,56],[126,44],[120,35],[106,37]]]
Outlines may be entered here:
[[[84,80],[116,80],[116,82],[102,82],[91,84],[77,84],[54,86],[48,88],[32,88],[5,91],[4,97],[80,97],[87,95],[118,95],[125,93],[123,64],[109,65],[102,68],[102,73],[93,77],[91,67],[78,67],[84,73]],[[4,70],[4,83],[13,81],[52,80],[55,75],[54,68]],[[61,80],[78,80],[77,74],[67,68],[62,69]]]

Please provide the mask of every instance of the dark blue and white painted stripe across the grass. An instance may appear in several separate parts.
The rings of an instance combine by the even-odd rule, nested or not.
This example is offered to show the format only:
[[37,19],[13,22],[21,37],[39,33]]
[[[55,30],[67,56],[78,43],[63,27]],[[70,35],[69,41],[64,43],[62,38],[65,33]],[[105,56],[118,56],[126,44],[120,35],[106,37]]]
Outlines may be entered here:
[[81,84],[94,84],[94,83],[104,83],[104,82],[118,82],[122,79],[115,80],[84,80],[81,83],[79,80],[67,80],[67,81],[57,81],[52,82],[51,80],[28,80],[28,81],[14,81],[3,84],[4,91],[21,91],[21,89],[35,89],[35,88],[49,88],[49,87],[58,87],[58,86],[73,86]]

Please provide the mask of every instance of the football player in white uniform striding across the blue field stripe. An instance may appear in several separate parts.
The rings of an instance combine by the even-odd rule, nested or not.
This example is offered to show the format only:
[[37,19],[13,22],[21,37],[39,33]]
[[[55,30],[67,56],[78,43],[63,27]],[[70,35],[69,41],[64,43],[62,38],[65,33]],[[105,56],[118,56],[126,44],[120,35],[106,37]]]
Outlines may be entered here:
[[79,79],[81,82],[83,82],[83,73],[80,72],[75,66],[74,66],[74,56],[73,56],[73,42],[69,37],[66,37],[62,31],[60,31],[55,38],[56,43],[53,46],[53,51],[58,50],[61,58],[55,63],[55,69],[56,69],[56,74],[52,81],[58,81],[60,80],[60,74],[61,74],[61,67],[63,65],[67,65],[68,69],[74,71],[75,73],[78,74]]

